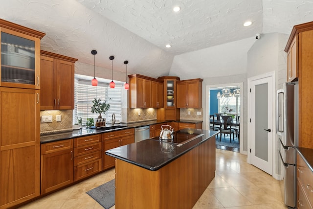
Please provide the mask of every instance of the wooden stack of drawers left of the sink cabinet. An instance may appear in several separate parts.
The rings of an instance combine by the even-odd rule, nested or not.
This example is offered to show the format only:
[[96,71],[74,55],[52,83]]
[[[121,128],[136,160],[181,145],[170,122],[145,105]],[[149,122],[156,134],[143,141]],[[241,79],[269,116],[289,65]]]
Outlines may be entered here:
[[102,170],[100,134],[74,139],[74,181]]

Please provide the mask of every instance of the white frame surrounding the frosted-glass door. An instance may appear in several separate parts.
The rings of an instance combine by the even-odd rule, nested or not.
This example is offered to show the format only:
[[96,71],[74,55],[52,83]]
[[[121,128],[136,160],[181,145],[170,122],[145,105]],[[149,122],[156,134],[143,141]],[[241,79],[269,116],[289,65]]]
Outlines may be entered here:
[[249,122],[249,118],[251,118],[251,94],[249,92],[249,89],[251,89],[251,82],[263,78],[271,77],[272,81],[272,176],[275,178],[276,177],[276,80],[275,80],[275,71],[271,71],[262,75],[257,75],[254,77],[248,78],[248,113],[247,113],[247,163],[251,164],[251,153],[250,153],[250,148],[251,148],[251,140],[252,140],[252,133],[251,133],[251,123]]

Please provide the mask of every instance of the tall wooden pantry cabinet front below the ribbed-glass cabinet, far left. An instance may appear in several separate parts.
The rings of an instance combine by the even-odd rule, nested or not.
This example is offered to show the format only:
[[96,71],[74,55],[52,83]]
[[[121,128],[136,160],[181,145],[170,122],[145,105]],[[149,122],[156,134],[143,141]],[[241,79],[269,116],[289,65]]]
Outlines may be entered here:
[[1,208],[40,195],[38,98],[39,90],[0,87]]

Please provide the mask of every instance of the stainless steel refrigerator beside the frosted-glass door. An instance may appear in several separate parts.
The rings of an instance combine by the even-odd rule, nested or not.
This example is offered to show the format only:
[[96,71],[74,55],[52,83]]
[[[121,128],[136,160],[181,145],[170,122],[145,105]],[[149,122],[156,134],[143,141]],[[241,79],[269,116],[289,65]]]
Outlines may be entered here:
[[298,141],[298,83],[285,83],[277,91],[277,138],[284,165],[284,203],[296,207],[296,150]]

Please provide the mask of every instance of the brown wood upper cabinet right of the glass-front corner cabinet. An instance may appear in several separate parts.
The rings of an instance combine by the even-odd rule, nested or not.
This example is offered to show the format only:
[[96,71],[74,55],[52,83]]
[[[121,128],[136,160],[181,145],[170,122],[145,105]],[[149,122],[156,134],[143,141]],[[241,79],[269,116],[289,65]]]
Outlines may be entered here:
[[177,108],[202,107],[202,79],[177,81]]

